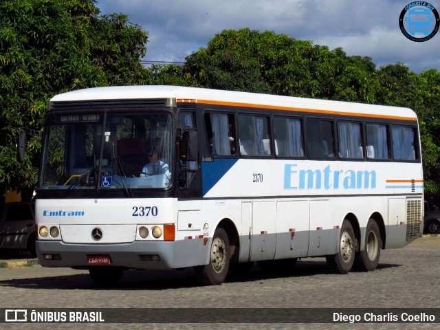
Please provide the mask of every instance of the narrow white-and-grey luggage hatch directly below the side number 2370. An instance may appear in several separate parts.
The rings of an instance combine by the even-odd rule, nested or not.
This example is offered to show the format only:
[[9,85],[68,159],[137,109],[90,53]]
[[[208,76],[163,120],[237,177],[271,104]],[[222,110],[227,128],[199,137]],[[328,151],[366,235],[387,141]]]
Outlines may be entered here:
[[275,201],[254,201],[252,203],[251,261],[274,259],[276,245],[275,219]]

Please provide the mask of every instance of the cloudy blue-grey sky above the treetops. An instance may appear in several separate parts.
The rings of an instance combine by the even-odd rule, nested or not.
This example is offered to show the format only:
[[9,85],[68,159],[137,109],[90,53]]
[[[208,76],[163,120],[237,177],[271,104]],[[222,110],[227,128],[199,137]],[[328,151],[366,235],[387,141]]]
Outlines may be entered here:
[[[411,71],[440,71],[440,32],[411,41],[399,28],[404,0],[98,0],[101,14],[122,13],[148,32],[143,61],[184,62],[217,33],[274,31],[349,56],[369,56],[377,69],[404,63]],[[423,3],[423,1],[420,1]],[[440,0],[430,2],[440,12]],[[414,9],[426,9],[417,5]],[[406,14],[408,17],[408,14]],[[431,12],[431,17],[434,15]],[[430,31],[436,22],[431,23]],[[408,30],[408,23],[404,23]],[[416,34],[422,38],[423,34]]]

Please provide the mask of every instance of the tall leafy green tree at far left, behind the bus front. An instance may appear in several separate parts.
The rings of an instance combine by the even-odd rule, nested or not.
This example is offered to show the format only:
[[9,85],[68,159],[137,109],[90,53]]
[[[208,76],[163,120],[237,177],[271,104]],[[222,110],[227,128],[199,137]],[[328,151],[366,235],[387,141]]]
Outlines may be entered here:
[[140,63],[148,34],[95,0],[0,2],[0,192],[36,185],[41,143],[16,160],[19,127],[41,130],[48,100],[63,91],[151,80]]

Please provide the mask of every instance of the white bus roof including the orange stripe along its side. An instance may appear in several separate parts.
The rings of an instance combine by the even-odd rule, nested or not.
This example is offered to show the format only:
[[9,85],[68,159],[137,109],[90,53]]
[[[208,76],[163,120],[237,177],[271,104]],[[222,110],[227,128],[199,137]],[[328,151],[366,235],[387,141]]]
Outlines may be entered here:
[[408,108],[179,86],[120,86],[79,89],[58,94],[51,99],[51,102],[147,100],[153,98],[175,98],[177,103],[192,102],[287,111],[333,113],[335,115],[362,115],[375,118],[417,120],[415,112]]

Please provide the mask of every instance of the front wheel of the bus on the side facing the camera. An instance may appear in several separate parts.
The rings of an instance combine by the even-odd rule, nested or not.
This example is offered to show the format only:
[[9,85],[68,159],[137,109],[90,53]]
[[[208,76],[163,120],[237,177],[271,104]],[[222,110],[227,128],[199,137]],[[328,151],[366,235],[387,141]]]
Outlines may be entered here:
[[208,265],[195,267],[197,280],[206,285],[219,285],[228,275],[230,248],[228,234],[217,228],[212,236]]

